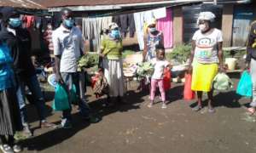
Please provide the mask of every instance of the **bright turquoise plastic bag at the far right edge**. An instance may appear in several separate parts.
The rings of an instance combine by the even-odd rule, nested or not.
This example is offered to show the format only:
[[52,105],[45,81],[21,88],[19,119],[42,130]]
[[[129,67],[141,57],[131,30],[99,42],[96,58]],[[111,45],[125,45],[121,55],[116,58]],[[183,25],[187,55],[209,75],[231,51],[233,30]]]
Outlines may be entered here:
[[241,74],[241,79],[238,82],[236,88],[236,94],[241,96],[252,97],[253,96],[253,82],[252,77],[248,71],[243,71]]

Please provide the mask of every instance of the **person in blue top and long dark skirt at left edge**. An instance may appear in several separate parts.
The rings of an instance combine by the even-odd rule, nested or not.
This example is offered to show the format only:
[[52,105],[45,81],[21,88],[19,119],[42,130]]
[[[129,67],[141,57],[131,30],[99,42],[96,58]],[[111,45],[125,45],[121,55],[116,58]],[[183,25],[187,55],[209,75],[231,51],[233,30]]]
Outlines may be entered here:
[[21,150],[14,139],[15,132],[22,130],[22,124],[11,63],[9,48],[0,44],[0,149],[4,153]]

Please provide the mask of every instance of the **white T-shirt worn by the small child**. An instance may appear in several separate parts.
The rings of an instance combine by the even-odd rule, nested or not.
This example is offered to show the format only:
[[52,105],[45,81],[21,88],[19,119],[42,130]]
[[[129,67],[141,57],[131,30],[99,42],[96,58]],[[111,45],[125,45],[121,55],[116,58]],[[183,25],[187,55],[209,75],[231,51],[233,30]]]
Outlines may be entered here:
[[164,77],[164,70],[169,65],[167,60],[159,60],[159,59],[152,59],[152,64],[154,65],[154,74],[152,79],[163,79]]

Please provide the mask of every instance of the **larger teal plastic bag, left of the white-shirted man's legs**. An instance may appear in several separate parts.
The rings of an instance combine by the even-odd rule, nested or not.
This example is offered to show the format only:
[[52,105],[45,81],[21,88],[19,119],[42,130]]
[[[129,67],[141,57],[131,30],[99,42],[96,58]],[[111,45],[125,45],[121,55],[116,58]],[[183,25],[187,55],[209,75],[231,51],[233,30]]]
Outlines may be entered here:
[[55,99],[53,101],[52,108],[55,111],[64,111],[70,109],[67,91],[59,83],[56,84],[55,87]]

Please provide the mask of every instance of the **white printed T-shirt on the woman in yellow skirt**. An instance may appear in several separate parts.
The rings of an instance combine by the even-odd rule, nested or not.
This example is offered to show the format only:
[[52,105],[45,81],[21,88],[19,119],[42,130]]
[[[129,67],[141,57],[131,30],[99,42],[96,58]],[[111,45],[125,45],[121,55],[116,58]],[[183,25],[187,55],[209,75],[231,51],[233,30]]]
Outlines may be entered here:
[[216,28],[211,33],[195,31],[195,59],[202,64],[218,63],[218,42],[223,42],[222,32]]

